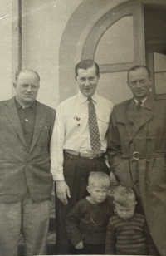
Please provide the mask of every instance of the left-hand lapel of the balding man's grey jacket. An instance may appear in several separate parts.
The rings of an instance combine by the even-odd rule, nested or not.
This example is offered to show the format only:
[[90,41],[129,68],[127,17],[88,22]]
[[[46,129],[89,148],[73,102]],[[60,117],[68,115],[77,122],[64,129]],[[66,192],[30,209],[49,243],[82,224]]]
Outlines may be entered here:
[[17,132],[17,135],[20,137],[20,140],[22,140],[22,143],[26,146],[26,140],[24,138],[23,132],[22,132],[22,126],[20,123],[20,119],[17,113],[17,107],[14,102],[14,98],[12,98],[10,101],[7,101],[5,113],[8,117],[8,119],[11,121],[12,126]]

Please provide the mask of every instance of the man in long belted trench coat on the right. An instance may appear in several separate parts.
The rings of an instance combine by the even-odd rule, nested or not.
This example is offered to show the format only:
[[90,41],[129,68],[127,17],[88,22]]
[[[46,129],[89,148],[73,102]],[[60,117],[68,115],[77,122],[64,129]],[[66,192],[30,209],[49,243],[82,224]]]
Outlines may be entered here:
[[160,255],[166,254],[166,99],[149,94],[146,66],[128,72],[134,98],[114,107],[108,151],[120,185],[137,195]]

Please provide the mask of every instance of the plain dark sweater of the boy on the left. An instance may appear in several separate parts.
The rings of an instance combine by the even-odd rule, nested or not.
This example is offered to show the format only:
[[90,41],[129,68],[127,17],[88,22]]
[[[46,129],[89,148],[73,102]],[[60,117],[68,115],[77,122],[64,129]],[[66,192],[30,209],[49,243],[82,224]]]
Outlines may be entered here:
[[114,210],[108,199],[101,204],[79,201],[66,218],[66,229],[71,244],[81,240],[85,244],[105,244],[106,229]]

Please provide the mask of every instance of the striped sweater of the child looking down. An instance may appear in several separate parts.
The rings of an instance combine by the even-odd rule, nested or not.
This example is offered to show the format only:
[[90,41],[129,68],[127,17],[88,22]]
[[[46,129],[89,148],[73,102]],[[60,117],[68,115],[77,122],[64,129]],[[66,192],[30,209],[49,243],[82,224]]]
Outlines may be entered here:
[[[116,250],[127,254],[137,254],[139,250],[149,247],[154,249],[154,243],[142,214],[134,214],[131,219],[121,219],[115,215],[110,218],[105,241],[105,254],[115,254]],[[151,254],[152,255],[152,254]]]

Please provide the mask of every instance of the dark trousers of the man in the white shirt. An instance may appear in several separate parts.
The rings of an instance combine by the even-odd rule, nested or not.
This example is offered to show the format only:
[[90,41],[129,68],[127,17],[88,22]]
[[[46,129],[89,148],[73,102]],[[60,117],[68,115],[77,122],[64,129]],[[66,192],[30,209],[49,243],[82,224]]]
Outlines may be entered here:
[[71,191],[71,199],[64,205],[56,198],[56,254],[71,254],[66,234],[66,215],[71,208],[87,196],[86,186],[91,171],[102,171],[109,175],[103,156],[94,159],[64,153],[64,176]]

